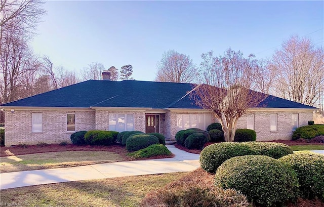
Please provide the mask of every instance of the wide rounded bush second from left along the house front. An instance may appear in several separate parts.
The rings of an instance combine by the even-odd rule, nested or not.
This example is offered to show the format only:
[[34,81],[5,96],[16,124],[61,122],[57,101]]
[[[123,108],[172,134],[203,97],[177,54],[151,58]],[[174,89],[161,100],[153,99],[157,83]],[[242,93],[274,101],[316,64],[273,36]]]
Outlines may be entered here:
[[85,141],[90,145],[111,145],[116,142],[118,132],[91,130],[85,134]]

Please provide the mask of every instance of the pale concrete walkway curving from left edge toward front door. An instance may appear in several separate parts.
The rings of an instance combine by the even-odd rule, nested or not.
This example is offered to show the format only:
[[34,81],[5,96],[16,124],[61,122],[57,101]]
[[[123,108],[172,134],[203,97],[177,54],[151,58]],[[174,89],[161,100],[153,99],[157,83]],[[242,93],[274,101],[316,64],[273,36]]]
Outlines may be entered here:
[[185,152],[174,145],[167,145],[167,147],[175,154],[175,157],[1,173],[0,189],[124,176],[188,172],[200,167],[199,154]]

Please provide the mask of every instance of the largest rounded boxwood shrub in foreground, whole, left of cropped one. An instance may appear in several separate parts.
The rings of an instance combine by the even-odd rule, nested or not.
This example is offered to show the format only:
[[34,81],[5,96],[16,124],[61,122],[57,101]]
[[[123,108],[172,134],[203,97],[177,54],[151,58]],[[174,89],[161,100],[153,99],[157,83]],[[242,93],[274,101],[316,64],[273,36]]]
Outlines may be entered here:
[[295,171],[287,164],[264,155],[226,160],[216,171],[215,185],[240,191],[249,201],[262,206],[282,206],[298,195]]

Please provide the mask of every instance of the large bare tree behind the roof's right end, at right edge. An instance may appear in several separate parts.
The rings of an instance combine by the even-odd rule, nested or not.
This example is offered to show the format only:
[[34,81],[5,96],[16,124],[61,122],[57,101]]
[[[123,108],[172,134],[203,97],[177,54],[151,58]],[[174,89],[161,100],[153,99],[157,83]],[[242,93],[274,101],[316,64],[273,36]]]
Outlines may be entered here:
[[270,69],[276,74],[277,96],[315,105],[324,91],[324,51],[308,38],[292,36],[275,51]]

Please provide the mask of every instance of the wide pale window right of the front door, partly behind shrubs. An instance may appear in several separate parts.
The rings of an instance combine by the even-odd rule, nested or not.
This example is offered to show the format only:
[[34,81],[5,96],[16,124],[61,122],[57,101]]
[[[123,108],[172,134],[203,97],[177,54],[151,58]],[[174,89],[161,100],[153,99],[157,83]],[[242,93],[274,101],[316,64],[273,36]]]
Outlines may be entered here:
[[177,114],[177,132],[190,128],[206,130],[211,120],[211,114]]

